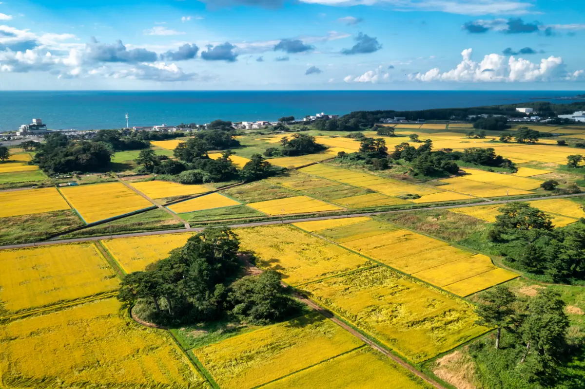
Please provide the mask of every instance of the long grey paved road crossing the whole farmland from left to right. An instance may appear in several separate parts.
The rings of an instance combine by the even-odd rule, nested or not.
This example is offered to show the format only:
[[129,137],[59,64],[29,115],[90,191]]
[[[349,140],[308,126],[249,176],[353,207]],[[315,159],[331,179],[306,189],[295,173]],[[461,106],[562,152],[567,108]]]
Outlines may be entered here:
[[[534,199],[526,199],[526,200],[518,200],[518,201],[563,199],[563,198],[566,198],[566,197],[577,197],[577,196],[584,196],[584,194],[583,193],[577,193],[577,194],[559,194],[559,196],[535,197]],[[511,202],[512,201],[514,201],[514,200],[511,200]],[[505,204],[505,203],[508,203],[508,202],[506,200],[499,200],[499,201],[490,201],[490,202],[482,202],[482,203],[473,203],[473,206],[493,205],[493,204]],[[436,207],[426,207],[426,208],[418,208],[418,209],[416,209],[416,208],[414,208],[414,209],[401,209],[401,210],[394,210],[394,211],[380,211],[380,212],[355,213],[355,214],[350,214],[350,215],[306,217],[306,218],[295,219],[295,220],[258,221],[256,223],[228,224],[228,225],[226,225],[226,227],[230,227],[230,228],[259,227],[261,225],[292,224],[292,223],[301,223],[302,221],[331,220],[331,219],[342,219],[342,218],[346,218],[346,217],[376,216],[376,215],[383,215],[383,214],[388,214],[388,213],[411,212],[411,211],[433,210],[433,209],[452,209],[452,208],[464,208],[464,207],[469,207],[469,204],[461,204],[461,205],[456,205],[456,206],[436,206]],[[204,227],[200,227],[200,228],[182,228],[180,230],[163,230],[163,231],[133,232],[133,233],[130,233],[130,234],[121,234],[121,235],[102,235],[101,237],[85,237],[85,238],[75,238],[75,239],[61,239],[61,240],[53,240],[53,241],[25,243],[25,244],[19,244],[19,245],[0,246],[0,250],[15,249],[15,248],[26,248],[26,247],[36,247],[36,246],[47,246],[47,245],[54,245],[54,244],[59,244],[59,243],[77,243],[77,242],[101,241],[101,240],[104,240],[104,239],[111,239],[111,238],[147,237],[149,235],[177,234],[178,232],[199,232],[199,231],[202,231],[203,229],[204,229]]]

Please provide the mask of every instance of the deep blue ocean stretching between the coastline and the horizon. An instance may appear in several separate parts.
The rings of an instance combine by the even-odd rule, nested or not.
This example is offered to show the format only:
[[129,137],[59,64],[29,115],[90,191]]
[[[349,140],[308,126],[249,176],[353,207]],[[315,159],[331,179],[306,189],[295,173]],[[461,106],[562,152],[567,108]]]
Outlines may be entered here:
[[[356,110],[420,110],[529,102],[570,103],[576,91],[67,91],[0,92],[0,131],[40,118],[53,130],[276,121]],[[534,100],[532,100],[534,101]]]

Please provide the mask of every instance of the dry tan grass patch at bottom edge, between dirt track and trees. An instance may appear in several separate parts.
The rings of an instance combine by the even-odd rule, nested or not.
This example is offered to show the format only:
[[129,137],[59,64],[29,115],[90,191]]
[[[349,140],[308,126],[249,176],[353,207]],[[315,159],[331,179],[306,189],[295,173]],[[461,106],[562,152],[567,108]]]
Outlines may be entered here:
[[457,350],[436,360],[433,373],[457,389],[477,389],[473,384],[475,367],[466,352]]

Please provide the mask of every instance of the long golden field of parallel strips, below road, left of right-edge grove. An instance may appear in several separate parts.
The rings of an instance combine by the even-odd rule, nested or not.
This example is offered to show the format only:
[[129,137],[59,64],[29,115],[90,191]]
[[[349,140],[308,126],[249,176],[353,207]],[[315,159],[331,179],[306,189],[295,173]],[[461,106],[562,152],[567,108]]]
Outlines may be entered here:
[[[305,228],[304,223],[295,225]],[[468,296],[518,276],[498,269],[485,255],[474,255],[438,239],[376,220],[321,230],[309,224],[307,228],[345,248],[459,296]]]

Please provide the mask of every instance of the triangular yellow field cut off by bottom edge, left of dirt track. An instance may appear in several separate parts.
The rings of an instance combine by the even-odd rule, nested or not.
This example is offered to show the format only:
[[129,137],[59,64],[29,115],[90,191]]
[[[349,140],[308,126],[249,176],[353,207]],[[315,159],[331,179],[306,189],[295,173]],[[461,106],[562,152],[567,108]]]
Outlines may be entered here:
[[433,388],[404,367],[371,348],[360,348],[298,371],[263,389],[417,389]]

